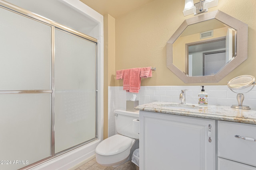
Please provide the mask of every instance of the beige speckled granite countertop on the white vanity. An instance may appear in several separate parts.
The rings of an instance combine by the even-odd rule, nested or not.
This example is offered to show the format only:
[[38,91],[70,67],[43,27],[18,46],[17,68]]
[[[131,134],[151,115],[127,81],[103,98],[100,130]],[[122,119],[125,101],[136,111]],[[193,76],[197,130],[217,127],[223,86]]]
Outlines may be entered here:
[[179,103],[172,102],[153,102],[149,104],[136,106],[135,109],[141,111],[152,111],[156,113],[166,113],[172,115],[183,115],[215,120],[256,124],[256,108],[234,109],[230,106],[203,106],[198,104],[185,104],[187,108],[168,107],[170,105],[182,106]]

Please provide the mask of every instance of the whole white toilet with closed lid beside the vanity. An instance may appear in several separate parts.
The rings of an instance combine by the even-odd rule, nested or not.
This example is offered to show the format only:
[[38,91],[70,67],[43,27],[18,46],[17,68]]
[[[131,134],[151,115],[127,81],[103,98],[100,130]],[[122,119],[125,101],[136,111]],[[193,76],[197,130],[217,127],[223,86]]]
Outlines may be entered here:
[[114,114],[118,135],[105,139],[95,149],[96,161],[102,166],[117,167],[131,160],[133,151],[139,148],[139,134],[132,127],[139,111],[115,110]]

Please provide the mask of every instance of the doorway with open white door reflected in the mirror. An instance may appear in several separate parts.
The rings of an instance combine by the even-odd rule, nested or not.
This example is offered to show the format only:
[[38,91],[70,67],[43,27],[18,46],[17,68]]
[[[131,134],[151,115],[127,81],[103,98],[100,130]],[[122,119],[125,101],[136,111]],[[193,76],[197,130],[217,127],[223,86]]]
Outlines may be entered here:
[[227,28],[226,37],[186,44],[186,74],[215,75],[236,57],[236,31]]

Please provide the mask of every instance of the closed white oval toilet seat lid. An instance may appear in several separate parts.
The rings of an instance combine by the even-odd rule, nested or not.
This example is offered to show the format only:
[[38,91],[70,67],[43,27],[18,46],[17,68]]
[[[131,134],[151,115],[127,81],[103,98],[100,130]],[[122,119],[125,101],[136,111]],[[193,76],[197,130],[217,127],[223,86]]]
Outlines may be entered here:
[[124,152],[132,145],[132,139],[122,135],[111,136],[102,141],[95,149],[100,155],[113,155]]

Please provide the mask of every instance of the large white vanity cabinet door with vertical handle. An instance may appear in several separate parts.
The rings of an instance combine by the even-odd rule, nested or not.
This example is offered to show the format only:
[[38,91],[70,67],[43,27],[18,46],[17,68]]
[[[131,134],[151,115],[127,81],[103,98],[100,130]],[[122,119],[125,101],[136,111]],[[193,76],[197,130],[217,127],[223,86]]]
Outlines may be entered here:
[[215,170],[215,159],[214,120],[140,111],[140,169]]

